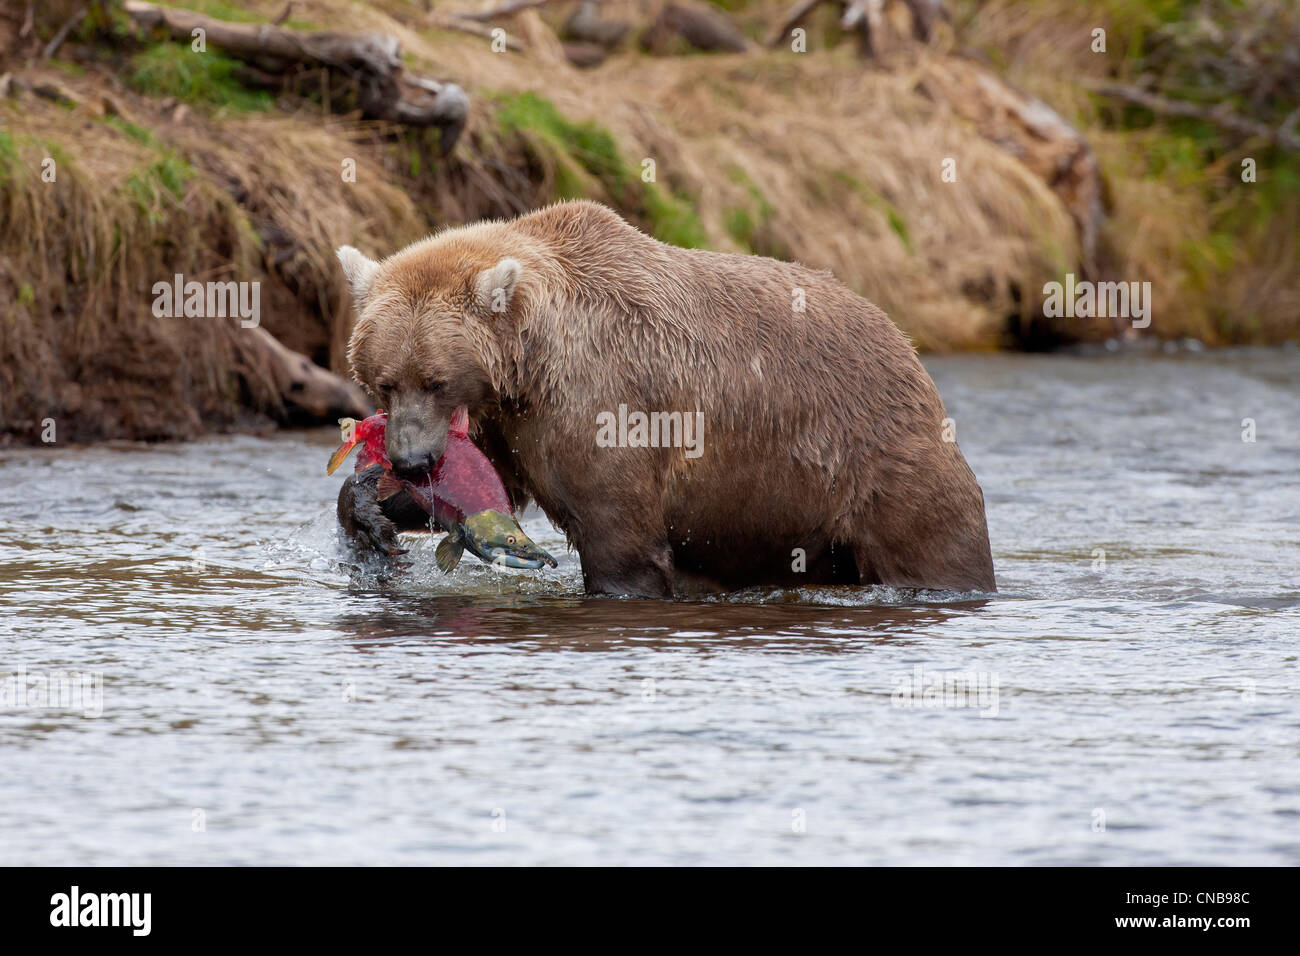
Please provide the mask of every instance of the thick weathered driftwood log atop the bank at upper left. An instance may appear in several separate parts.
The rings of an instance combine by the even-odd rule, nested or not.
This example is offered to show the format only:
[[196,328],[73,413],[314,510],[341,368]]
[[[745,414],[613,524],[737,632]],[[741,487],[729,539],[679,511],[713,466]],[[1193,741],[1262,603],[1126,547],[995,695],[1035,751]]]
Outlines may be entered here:
[[455,144],[469,113],[469,100],[459,86],[402,66],[402,48],[394,36],[230,23],[144,0],[126,0],[124,9],[136,23],[162,29],[178,40],[188,42],[191,31],[202,29],[208,43],[264,73],[315,65],[354,77],[359,81],[363,116],[407,126],[437,126],[442,130],[443,153]]

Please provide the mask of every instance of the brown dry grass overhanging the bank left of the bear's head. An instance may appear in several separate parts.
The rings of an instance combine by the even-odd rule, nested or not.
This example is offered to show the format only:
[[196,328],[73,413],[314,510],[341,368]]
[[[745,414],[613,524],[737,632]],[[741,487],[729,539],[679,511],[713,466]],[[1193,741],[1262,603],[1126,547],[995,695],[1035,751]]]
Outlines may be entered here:
[[[261,282],[264,325],[328,360],[347,337],[334,248],[426,229],[343,124],[146,111],[124,124],[32,96],[0,104],[0,432],[32,438],[52,418],[61,441],[185,437],[250,408],[282,418],[243,363],[238,321],[155,317],[153,284]],[[55,182],[40,177],[47,157]]]

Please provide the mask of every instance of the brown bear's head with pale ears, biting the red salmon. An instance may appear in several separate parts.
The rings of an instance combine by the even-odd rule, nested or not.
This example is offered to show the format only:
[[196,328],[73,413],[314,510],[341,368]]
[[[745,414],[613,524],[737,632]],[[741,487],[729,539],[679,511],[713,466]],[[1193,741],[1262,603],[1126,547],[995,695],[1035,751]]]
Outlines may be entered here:
[[458,406],[473,412],[491,398],[485,339],[511,311],[523,269],[517,259],[426,243],[384,261],[351,246],[338,250],[358,311],[347,358],[389,414],[386,451],[406,479],[442,458]]

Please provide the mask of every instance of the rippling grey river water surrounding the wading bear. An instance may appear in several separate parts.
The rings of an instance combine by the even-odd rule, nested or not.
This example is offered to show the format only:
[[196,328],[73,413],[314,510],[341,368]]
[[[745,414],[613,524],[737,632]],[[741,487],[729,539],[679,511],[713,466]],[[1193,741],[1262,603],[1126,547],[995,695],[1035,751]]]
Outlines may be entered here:
[[381,580],[333,429],[0,451],[0,864],[1300,862],[1300,350],[927,367],[991,598]]

